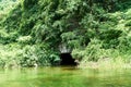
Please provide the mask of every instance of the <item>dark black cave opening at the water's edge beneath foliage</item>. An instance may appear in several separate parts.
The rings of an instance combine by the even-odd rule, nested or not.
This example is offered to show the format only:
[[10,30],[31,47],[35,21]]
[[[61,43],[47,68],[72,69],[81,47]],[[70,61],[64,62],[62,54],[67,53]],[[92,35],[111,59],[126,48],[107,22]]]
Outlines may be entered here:
[[61,53],[60,59],[60,65],[76,65],[75,60],[72,58],[71,53]]

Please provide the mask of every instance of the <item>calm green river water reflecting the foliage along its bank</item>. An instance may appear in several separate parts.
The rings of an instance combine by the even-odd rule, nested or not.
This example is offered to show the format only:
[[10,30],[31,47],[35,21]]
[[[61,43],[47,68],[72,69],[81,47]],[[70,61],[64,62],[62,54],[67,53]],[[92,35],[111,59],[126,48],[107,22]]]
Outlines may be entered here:
[[131,70],[1,69],[0,87],[131,87]]

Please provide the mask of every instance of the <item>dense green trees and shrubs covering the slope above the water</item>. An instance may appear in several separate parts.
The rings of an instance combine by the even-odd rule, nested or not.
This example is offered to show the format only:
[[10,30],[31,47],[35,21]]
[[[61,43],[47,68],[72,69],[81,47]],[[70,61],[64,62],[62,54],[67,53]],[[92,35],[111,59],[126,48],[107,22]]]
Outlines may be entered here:
[[[4,1],[13,5],[9,12]],[[130,63],[130,0],[0,0],[0,65],[50,65],[59,60],[62,44],[80,65],[103,59]]]

